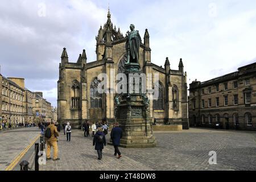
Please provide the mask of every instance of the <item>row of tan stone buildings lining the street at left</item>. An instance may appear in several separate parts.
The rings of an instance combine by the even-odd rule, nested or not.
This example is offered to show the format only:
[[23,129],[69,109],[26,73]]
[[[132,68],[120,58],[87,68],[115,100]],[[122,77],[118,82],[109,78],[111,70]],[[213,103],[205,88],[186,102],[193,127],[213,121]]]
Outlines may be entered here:
[[[35,98],[38,93],[31,92],[25,87],[24,78],[7,78],[0,74],[0,82],[1,124],[11,123],[16,125],[18,123],[32,123],[43,120],[51,120],[51,103],[42,98],[43,104],[39,105],[42,106],[42,109],[40,109],[40,107],[36,105]],[[36,110],[39,111],[38,115],[36,115]]]

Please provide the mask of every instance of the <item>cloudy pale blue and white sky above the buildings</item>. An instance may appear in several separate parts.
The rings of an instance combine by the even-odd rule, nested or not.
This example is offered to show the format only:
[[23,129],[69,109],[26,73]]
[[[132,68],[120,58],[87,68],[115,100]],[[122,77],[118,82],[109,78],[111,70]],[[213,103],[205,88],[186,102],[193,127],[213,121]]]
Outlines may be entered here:
[[205,81],[256,61],[255,0],[2,0],[0,65],[6,77],[26,78],[31,91],[43,91],[56,106],[57,79],[63,47],[69,61],[86,49],[96,60],[95,36],[106,22],[129,30],[130,23],[150,34],[151,61],[171,69],[183,58],[188,82]]

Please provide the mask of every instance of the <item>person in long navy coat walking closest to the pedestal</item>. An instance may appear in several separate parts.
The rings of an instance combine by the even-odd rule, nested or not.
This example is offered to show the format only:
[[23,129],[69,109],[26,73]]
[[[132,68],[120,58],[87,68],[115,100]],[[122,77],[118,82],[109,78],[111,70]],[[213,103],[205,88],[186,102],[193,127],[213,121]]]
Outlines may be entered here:
[[115,122],[115,125],[110,133],[110,138],[112,139],[112,143],[115,149],[115,153],[114,156],[117,156],[118,154],[118,158],[121,158],[121,152],[118,149],[118,146],[120,144],[120,139],[122,138],[122,129],[121,127],[119,127],[119,123]]

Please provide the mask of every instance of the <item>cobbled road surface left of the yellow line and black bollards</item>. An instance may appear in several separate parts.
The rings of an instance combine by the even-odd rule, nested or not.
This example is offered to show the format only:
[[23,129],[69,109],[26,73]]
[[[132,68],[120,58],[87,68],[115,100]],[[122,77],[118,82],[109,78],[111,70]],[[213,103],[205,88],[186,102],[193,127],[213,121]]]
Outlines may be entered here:
[[0,133],[0,171],[6,169],[12,160],[40,134],[38,127],[23,128]]

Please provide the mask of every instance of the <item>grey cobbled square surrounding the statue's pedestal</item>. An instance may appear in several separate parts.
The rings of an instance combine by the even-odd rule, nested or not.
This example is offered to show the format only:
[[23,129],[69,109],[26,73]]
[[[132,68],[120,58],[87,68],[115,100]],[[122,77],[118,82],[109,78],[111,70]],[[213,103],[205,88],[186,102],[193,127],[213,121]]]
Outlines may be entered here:
[[[120,148],[122,158],[106,146],[102,160],[92,146],[92,137],[72,130],[71,142],[61,133],[59,161],[48,160],[40,170],[255,170],[256,133],[189,129],[156,131],[155,148]],[[109,139],[109,134],[107,135]],[[210,165],[209,151],[217,152],[217,164]]]

